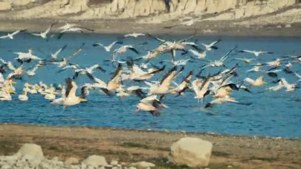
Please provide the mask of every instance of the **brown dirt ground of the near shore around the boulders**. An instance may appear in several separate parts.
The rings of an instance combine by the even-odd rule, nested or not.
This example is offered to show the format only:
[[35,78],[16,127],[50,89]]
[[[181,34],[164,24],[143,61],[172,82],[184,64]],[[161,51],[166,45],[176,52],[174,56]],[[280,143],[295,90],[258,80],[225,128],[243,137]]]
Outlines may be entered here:
[[158,132],[99,127],[48,127],[0,124],[0,155],[11,155],[24,143],[42,146],[47,158],[60,160],[102,155],[125,163],[148,161],[157,169],[180,169],[167,164],[169,147],[182,137],[213,144],[210,169],[300,169],[301,140],[207,133]]

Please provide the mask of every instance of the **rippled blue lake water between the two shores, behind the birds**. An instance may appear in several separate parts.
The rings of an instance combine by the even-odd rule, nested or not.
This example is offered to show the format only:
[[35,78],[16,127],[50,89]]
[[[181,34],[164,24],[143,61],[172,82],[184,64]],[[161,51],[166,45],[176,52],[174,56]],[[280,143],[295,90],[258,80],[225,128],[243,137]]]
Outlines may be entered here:
[[[0,33],[5,35],[6,33]],[[164,37],[164,36],[161,36]],[[166,36],[165,36],[166,37]],[[168,39],[181,39],[184,36],[167,36]],[[120,39],[120,35],[101,35],[101,34],[68,34],[61,40],[56,40],[54,37],[49,41],[31,36],[29,34],[19,34],[14,40],[0,41],[0,57],[4,60],[13,60],[16,57],[13,52],[26,52],[32,49],[36,55],[41,58],[48,58],[51,52],[67,44],[67,48],[59,55],[58,58],[66,57],[85,42],[83,51],[77,56],[72,57],[71,63],[77,63],[83,67],[99,63],[103,65],[104,59],[110,58],[110,53],[106,52],[101,47],[92,46],[95,42],[108,44],[116,39]],[[273,51],[275,54],[260,55],[258,61],[265,62],[273,60],[282,55],[300,55],[301,54],[301,38],[287,37],[196,37],[198,43],[209,43],[217,39],[222,41],[218,44],[219,49],[207,52],[206,59],[215,60],[224,55],[229,49],[238,45],[238,49],[251,50],[267,50]],[[149,42],[147,45],[140,46],[139,43]],[[158,42],[149,38],[141,37],[138,39],[125,39],[124,44],[134,44],[141,55],[147,53],[149,49],[153,49],[158,45]],[[115,46],[113,49],[115,49]],[[127,56],[138,57],[139,55],[132,51],[126,52],[120,58]],[[161,59],[169,59],[169,55],[160,55]],[[239,53],[232,58],[255,56],[248,53]],[[176,60],[187,58],[177,53]],[[158,59],[151,61],[157,64]],[[179,76],[176,82],[180,82],[182,77],[194,70],[199,71],[199,66],[205,62],[198,61],[196,63],[188,63],[182,76]],[[226,62],[227,67],[232,67],[237,61],[232,61],[231,58]],[[198,103],[194,99],[194,92],[187,92],[185,95],[175,97],[168,95],[164,103],[169,108],[161,110],[159,117],[152,117],[149,112],[140,111],[134,113],[136,104],[139,101],[138,97],[131,96],[127,98],[108,97],[100,95],[98,91],[91,91],[87,97],[88,102],[79,105],[67,107],[63,111],[60,105],[50,105],[49,100],[43,99],[42,95],[29,94],[27,102],[18,100],[18,95],[13,95],[13,101],[0,102],[0,123],[24,123],[24,124],[44,124],[54,126],[94,126],[94,127],[121,127],[121,128],[136,128],[136,129],[154,129],[154,130],[172,130],[172,131],[193,131],[193,132],[214,132],[239,135],[257,135],[257,136],[281,136],[288,138],[301,138],[301,102],[295,101],[301,99],[301,90],[296,89],[293,92],[286,92],[285,89],[273,92],[266,91],[267,86],[275,85],[270,82],[273,79],[267,77],[264,73],[246,73],[246,70],[252,66],[238,62],[239,77],[234,80],[241,80],[246,77],[252,79],[260,75],[264,75],[265,81],[269,84],[260,87],[251,87],[252,93],[239,91],[233,92],[231,96],[241,102],[252,102],[251,106],[243,106],[237,104],[221,104],[211,109],[203,110],[205,103]],[[18,63],[14,62],[15,65]],[[25,65],[32,66],[33,63]],[[107,70],[106,74],[96,71],[95,76],[107,81],[115,68],[104,66]],[[168,69],[172,65],[167,63]],[[267,70],[268,67],[264,68]],[[293,71],[301,73],[301,64],[294,63]],[[72,77],[73,70],[67,70],[56,74],[59,68],[55,65],[50,65],[37,70],[34,77],[24,76],[23,81],[17,81],[15,85],[18,94],[22,92],[25,82],[32,84],[43,81],[46,84],[57,83],[64,84],[64,79]],[[167,69],[166,69],[167,70]],[[211,74],[216,73],[218,69],[208,68]],[[155,75],[153,80],[158,80],[164,73]],[[204,74],[206,75],[206,73]],[[7,74],[5,74],[5,77]],[[283,72],[278,74],[279,78],[286,78],[289,83],[295,83],[298,78],[293,75],[287,75]],[[195,79],[195,77],[194,77]],[[78,85],[91,83],[86,76],[80,76],[76,83]],[[145,85],[145,84],[138,84]],[[78,90],[78,94],[80,91]],[[204,102],[209,102],[211,96],[205,98]]]

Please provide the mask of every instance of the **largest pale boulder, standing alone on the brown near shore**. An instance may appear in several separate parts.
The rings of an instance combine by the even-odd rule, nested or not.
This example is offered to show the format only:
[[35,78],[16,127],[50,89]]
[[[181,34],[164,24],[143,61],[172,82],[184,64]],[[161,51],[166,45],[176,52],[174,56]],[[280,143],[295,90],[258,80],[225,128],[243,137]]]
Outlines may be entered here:
[[173,143],[168,160],[177,165],[206,167],[209,164],[212,143],[200,138],[185,137]]

